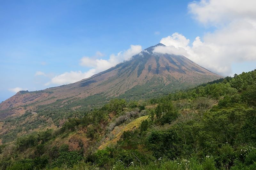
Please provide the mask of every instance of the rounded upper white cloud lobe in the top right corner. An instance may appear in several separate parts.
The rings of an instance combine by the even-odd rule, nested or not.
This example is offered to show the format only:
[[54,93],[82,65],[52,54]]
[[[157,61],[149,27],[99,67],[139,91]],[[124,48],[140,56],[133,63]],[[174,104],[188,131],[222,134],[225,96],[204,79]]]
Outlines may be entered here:
[[255,0],[201,0],[188,4],[188,10],[200,23],[216,26],[237,19],[255,19],[255,6]]

